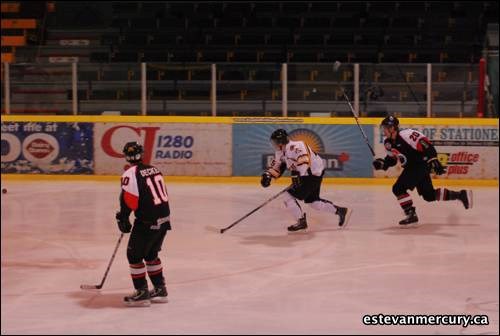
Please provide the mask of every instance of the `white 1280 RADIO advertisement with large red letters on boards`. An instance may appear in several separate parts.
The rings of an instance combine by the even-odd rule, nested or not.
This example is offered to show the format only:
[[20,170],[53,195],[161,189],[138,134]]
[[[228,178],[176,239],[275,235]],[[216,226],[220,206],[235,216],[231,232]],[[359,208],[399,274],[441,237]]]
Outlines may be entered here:
[[171,176],[230,176],[231,125],[99,123],[94,129],[95,172],[120,175],[129,141],[144,146],[144,162]]

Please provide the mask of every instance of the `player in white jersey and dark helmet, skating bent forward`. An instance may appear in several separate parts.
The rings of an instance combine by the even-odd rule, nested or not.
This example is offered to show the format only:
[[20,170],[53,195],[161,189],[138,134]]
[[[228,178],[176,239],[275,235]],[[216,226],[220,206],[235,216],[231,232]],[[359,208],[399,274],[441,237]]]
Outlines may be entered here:
[[290,140],[283,129],[271,134],[271,143],[275,149],[275,157],[262,174],[261,184],[264,188],[269,187],[273,178],[279,178],[287,168],[290,170],[292,186],[285,193],[284,204],[297,223],[289,226],[288,231],[307,228],[306,213],[297,200],[304,201],[313,209],[337,214],[338,225],[347,225],[351,210],[334,205],[319,196],[324,174],[323,159],[303,141]]

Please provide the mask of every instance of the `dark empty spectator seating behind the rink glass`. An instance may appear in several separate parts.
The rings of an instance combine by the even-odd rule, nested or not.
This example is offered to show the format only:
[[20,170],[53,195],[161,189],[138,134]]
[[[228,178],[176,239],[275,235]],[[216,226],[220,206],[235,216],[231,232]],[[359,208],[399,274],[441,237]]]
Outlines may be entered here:
[[[29,3],[2,3],[2,14],[5,9],[11,17],[25,15]],[[30,17],[37,24],[35,31],[40,38],[33,41],[35,45],[25,43],[5,57],[37,64],[72,60],[94,64],[89,69],[79,68],[79,82],[83,84],[79,85],[79,97],[90,100],[139,99],[140,62],[167,64],[164,69],[148,65],[150,100],[209,99],[211,63],[242,65],[230,71],[218,68],[222,100],[281,99],[276,84],[280,70],[274,66],[281,63],[309,64],[303,74],[290,72],[290,100],[341,100],[331,87],[317,89],[331,86],[336,79],[315,65],[337,60],[361,64],[477,64],[486,26],[498,22],[498,3],[494,1],[42,3],[44,9]],[[3,28],[4,19],[2,32]],[[3,45],[2,37],[2,52]],[[247,70],[245,64],[251,63],[262,66]],[[112,71],[105,66],[109,64],[123,67]],[[128,64],[135,70],[128,69]],[[204,68],[193,70],[187,64]],[[264,69],[267,64],[269,70]],[[463,82],[464,71],[452,71],[448,78],[461,77]],[[401,81],[401,75],[398,72],[397,81]],[[119,81],[134,81],[134,87],[109,85]],[[405,93],[401,85],[407,86],[387,84],[382,90],[386,99],[425,98],[425,90]],[[439,97],[457,99],[446,90],[440,90]]]

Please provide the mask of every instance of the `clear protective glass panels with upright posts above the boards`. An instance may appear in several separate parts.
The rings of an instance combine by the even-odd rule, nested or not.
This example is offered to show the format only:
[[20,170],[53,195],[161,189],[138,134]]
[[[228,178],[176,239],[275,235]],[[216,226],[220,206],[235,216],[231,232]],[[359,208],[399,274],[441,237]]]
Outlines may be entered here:
[[[2,113],[475,117],[478,64],[2,64]],[[486,110],[485,116],[496,116]]]

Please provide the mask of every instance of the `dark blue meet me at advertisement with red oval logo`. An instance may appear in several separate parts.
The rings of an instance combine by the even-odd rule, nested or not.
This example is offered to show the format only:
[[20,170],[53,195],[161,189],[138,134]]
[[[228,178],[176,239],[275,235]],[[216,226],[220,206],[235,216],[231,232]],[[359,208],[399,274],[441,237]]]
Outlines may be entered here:
[[93,174],[92,123],[2,122],[2,173]]

